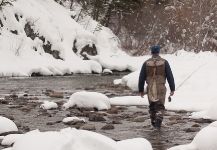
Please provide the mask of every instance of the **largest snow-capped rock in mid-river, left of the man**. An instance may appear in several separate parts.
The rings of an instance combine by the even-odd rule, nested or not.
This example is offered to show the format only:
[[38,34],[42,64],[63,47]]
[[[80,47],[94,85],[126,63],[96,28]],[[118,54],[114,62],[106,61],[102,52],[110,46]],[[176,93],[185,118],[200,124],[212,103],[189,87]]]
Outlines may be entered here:
[[71,95],[69,101],[63,105],[64,109],[77,106],[81,108],[96,108],[107,110],[111,108],[109,98],[97,92],[76,92]]

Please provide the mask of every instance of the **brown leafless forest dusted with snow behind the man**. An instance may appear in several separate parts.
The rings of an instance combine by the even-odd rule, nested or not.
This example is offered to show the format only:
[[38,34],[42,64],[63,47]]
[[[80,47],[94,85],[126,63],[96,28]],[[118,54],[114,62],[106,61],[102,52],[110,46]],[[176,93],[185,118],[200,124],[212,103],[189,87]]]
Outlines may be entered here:
[[[109,27],[122,47],[134,55],[159,44],[165,53],[177,49],[217,51],[216,0],[56,0],[78,2],[80,14]],[[72,7],[71,7],[72,8]]]

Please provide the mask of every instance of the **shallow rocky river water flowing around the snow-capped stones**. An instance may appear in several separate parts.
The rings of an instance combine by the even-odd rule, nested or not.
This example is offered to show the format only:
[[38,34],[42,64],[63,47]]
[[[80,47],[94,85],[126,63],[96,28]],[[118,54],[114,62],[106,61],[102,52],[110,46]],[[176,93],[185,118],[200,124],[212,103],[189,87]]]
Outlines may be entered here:
[[[108,97],[136,95],[127,87],[113,85],[113,80],[123,75],[124,73],[105,76],[0,78],[0,115],[12,119],[21,133],[34,129],[49,131],[75,127],[93,130],[116,141],[136,137],[146,138],[155,150],[166,150],[175,145],[189,143],[201,128],[211,122],[211,120],[190,119],[190,113],[186,111],[167,111],[164,125],[160,131],[157,131],[150,125],[147,106],[112,106],[109,111],[61,108],[69,96],[76,91],[101,92]],[[51,96],[47,94],[49,91],[62,93],[63,97]],[[44,100],[57,102],[59,108],[42,110],[39,106]],[[62,119],[67,116],[83,117],[87,122],[85,124],[62,123]],[[3,148],[0,146],[0,149]]]

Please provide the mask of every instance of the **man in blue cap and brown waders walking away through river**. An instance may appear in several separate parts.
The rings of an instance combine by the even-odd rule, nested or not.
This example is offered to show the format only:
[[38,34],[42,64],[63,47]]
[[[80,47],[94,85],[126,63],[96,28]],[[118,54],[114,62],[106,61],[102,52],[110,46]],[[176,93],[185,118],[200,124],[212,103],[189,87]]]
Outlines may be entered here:
[[164,103],[166,96],[166,79],[170,86],[170,96],[175,91],[175,83],[170,65],[167,60],[159,56],[160,46],[152,46],[152,57],[145,61],[139,76],[139,92],[141,97],[145,95],[144,85],[147,83],[147,94],[149,101],[149,113],[151,124],[160,128],[165,111]]

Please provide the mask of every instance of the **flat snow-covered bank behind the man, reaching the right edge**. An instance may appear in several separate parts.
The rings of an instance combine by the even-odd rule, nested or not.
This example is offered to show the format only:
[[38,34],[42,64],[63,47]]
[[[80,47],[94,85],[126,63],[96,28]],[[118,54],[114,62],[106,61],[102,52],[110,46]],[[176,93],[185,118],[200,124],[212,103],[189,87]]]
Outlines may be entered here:
[[[208,114],[212,115],[210,115],[209,118],[216,119],[216,113],[213,111],[217,108],[215,105],[217,99],[215,80],[217,76],[217,70],[215,69],[217,67],[216,53],[201,52],[195,54],[179,51],[177,54],[162,55],[162,57],[169,61],[177,87],[175,95],[172,97],[172,102],[166,102],[166,108],[170,110],[184,109],[188,111],[210,110],[211,112],[209,111]],[[138,62],[138,64],[142,64],[146,59],[147,56],[144,57],[142,62]],[[141,66],[137,68],[137,71],[114,82],[127,85],[132,90],[137,91],[140,68]],[[168,96],[170,91],[168,85],[167,89]],[[133,98],[126,97],[125,99]],[[138,98],[135,97],[136,101],[137,99]],[[144,97],[143,100],[146,101],[146,103],[148,101],[146,97]],[[118,102],[116,101],[116,103]],[[121,102],[119,101],[119,103]],[[207,113],[205,115],[207,115]]]

